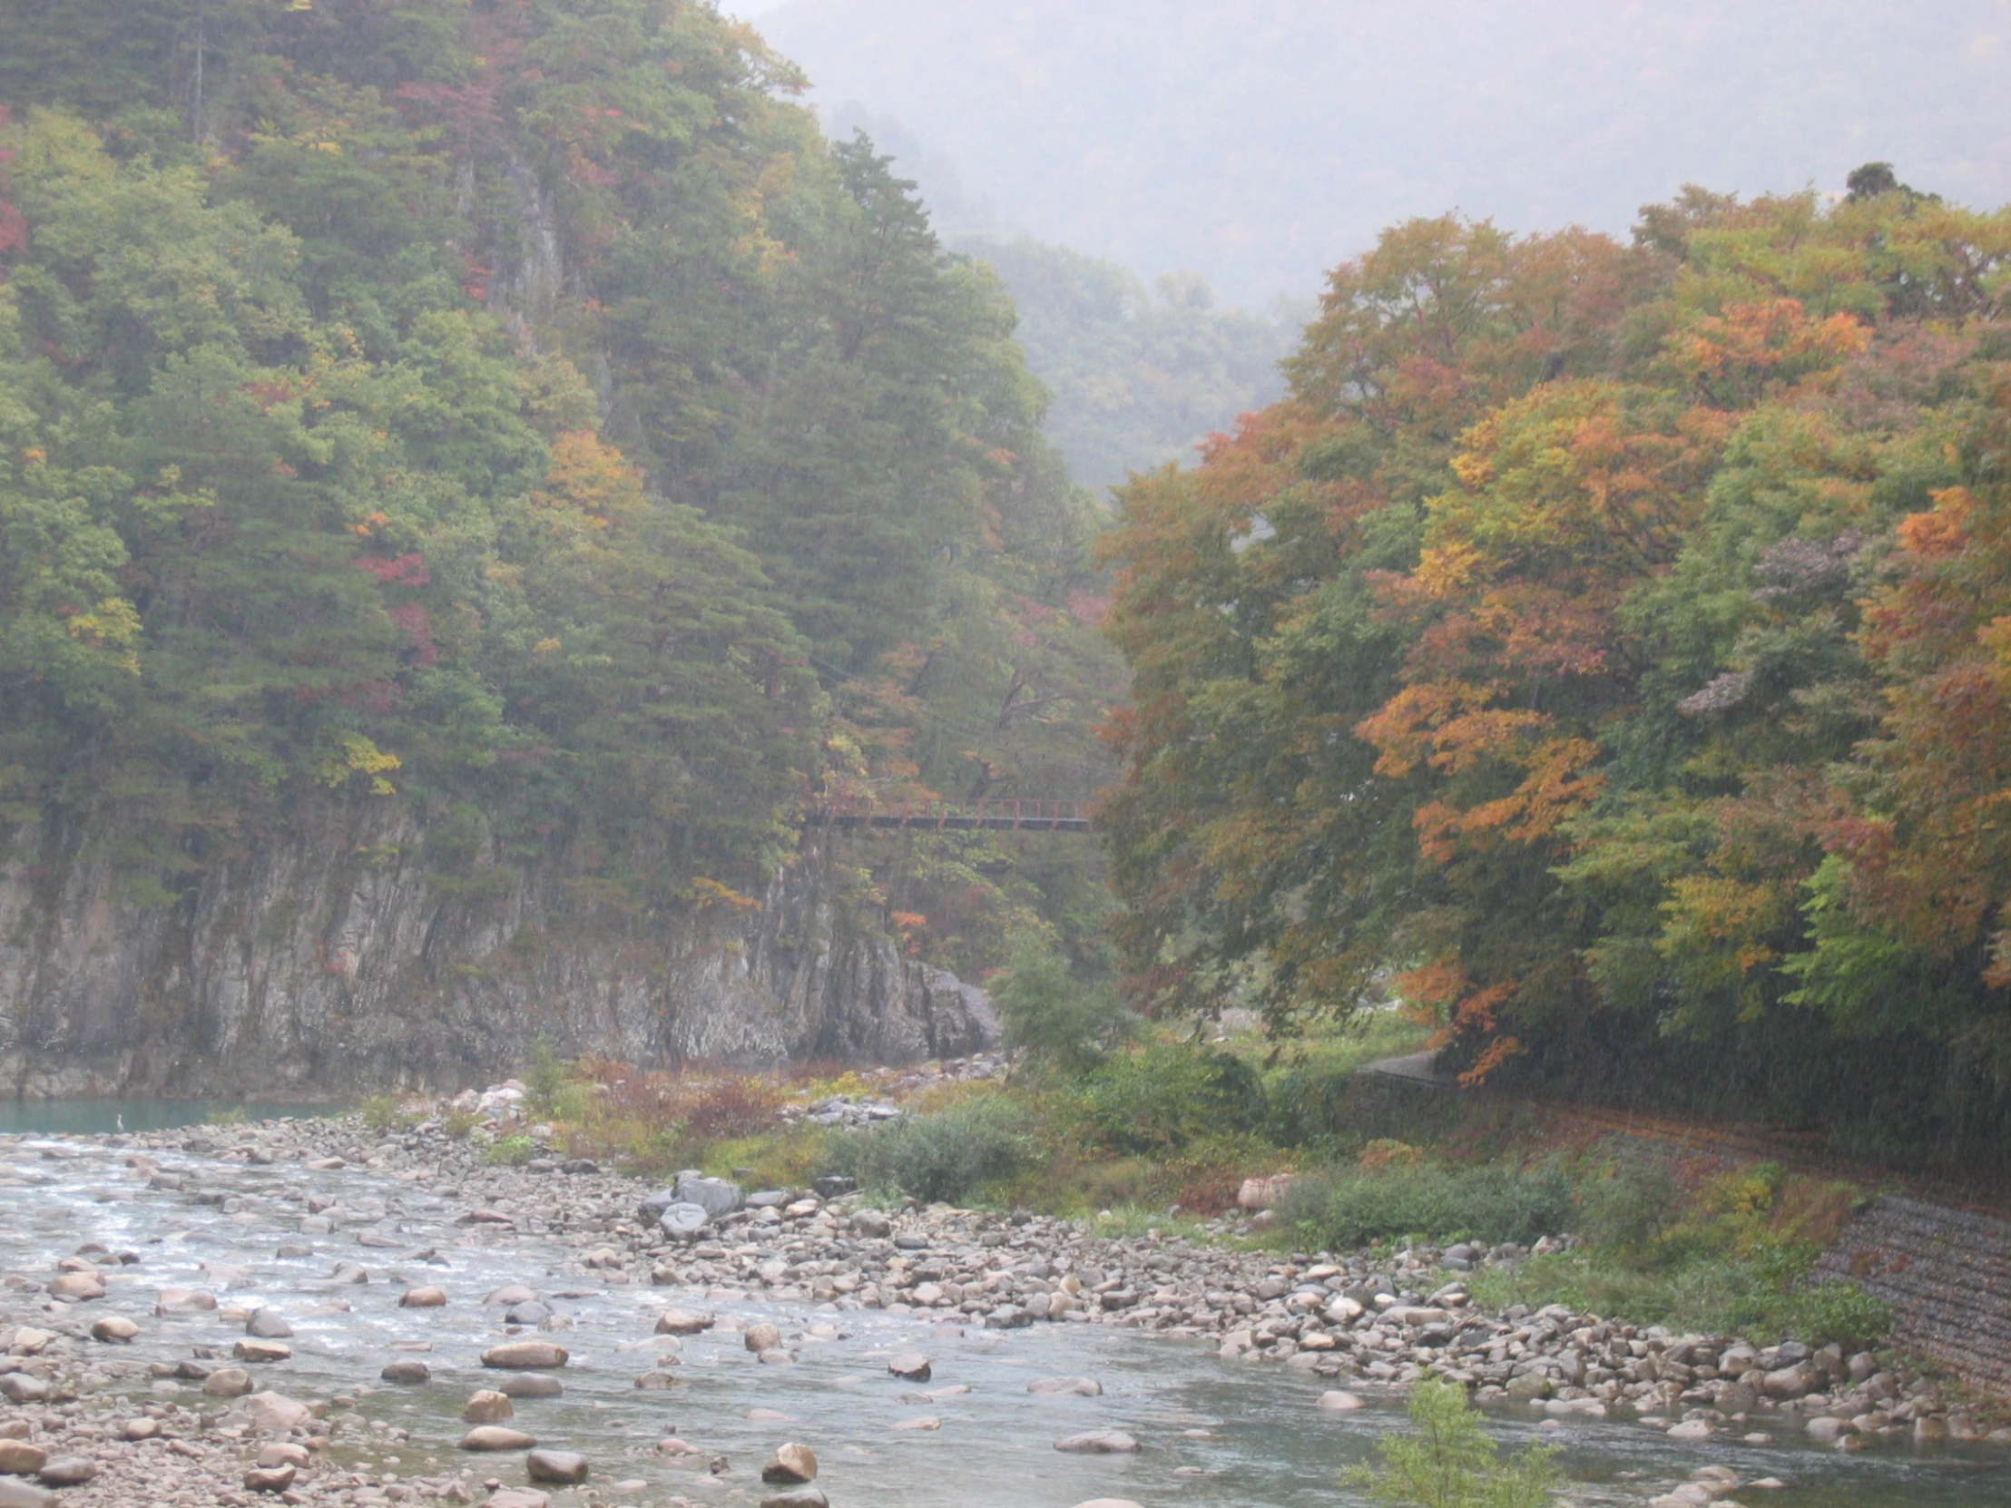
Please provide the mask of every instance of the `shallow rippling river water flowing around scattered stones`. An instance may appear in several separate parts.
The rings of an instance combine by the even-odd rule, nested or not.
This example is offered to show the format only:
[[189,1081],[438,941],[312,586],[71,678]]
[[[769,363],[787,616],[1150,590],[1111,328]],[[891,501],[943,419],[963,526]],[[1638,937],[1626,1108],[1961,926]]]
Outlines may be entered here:
[[[1100,1325],[955,1333],[917,1315],[778,1309],[738,1295],[609,1287],[581,1279],[577,1267],[563,1275],[577,1253],[537,1237],[454,1227],[456,1204],[384,1174],[169,1154],[167,1170],[189,1174],[195,1188],[225,1200],[197,1204],[187,1192],[131,1180],[123,1156],[88,1142],[0,1136],[0,1271],[46,1281],[58,1257],[90,1241],[139,1253],[139,1265],[119,1269],[111,1297],[88,1307],[90,1317],[125,1313],[143,1327],[139,1345],[121,1349],[119,1359],[179,1361],[195,1345],[227,1353],[241,1333],[217,1315],[155,1319],[159,1287],[211,1287],[227,1305],[273,1305],[294,1327],[294,1359],[257,1369],[259,1385],[296,1397],[358,1395],[364,1416],[410,1430],[410,1442],[380,1450],[340,1446],[336,1458],[362,1470],[410,1478],[475,1466],[477,1476],[523,1482],[517,1458],[469,1458],[454,1450],[465,1430],[461,1403],[497,1375],[477,1357],[501,1339],[499,1311],[481,1299],[503,1283],[541,1289],[571,1319],[569,1329],[551,1335],[571,1349],[561,1373],[565,1395],[519,1399],[515,1418],[541,1444],[585,1452],[595,1464],[599,1486],[557,1494],[555,1504],[642,1506],[672,1496],[754,1502],[766,1454],[782,1440],[802,1440],[822,1462],[818,1486],[835,1508],[1072,1508],[1086,1498],[1134,1498],[1144,1508],[1343,1508],[1361,1496],[1339,1484],[1341,1472],[1367,1458],[1378,1434],[1402,1420],[1394,1397],[1374,1397],[1359,1413],[1321,1411],[1319,1379],[1221,1361],[1213,1347],[1195,1341]],[[306,1190],[348,1208],[386,1202],[386,1218],[374,1229],[402,1245],[364,1249],[356,1245],[356,1229],[344,1227],[314,1237],[310,1259],[276,1259],[282,1239],[300,1239]],[[408,1255],[426,1249],[436,1255]],[[362,1263],[372,1281],[332,1283],[336,1261]],[[245,1269],[247,1281],[225,1287],[205,1275],[205,1263]],[[398,1309],[408,1283],[438,1283],[450,1303]],[[722,1331],[682,1343],[682,1365],[674,1367],[680,1387],[639,1391],[635,1375],[676,1345],[652,1335],[654,1315],[666,1303],[712,1309]],[[734,1321],[780,1325],[800,1361],[756,1363],[740,1335],[724,1331]],[[887,1355],[897,1349],[925,1351],[935,1363],[933,1379],[889,1377]],[[424,1359],[432,1381],[376,1383],[380,1367],[400,1355]],[[1076,1373],[1100,1379],[1104,1395],[1026,1393],[1036,1377]],[[903,1397],[959,1383],[971,1393],[937,1401]],[[193,1385],[179,1385],[175,1395],[187,1403],[199,1397]],[[746,1413],[754,1407],[786,1413],[788,1422],[750,1422]],[[925,1416],[941,1428],[895,1428]],[[1062,1436],[1100,1428],[1128,1430],[1144,1450],[1114,1458],[1054,1450]],[[1886,1446],[1846,1458],[1800,1442],[1679,1446],[1619,1422],[1538,1432],[1520,1418],[1498,1416],[1494,1430],[1506,1444],[1540,1436],[1565,1446],[1569,1500],[1585,1508],[1641,1504],[1705,1464],[1788,1484],[1742,1490],[1738,1498],[1748,1508],[2011,1504],[2011,1458],[1997,1448]],[[704,1458],[696,1466],[666,1460],[656,1442],[670,1434],[708,1456],[728,1456],[730,1472],[712,1478]],[[611,1494],[605,1484],[621,1480],[646,1488]]]

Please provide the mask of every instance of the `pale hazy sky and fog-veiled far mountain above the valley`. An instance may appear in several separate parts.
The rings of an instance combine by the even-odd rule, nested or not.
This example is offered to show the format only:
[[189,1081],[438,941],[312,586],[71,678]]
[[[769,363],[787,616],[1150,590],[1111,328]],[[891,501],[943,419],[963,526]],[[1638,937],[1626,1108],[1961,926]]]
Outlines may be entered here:
[[[1012,227],[1241,302],[1462,209],[1623,233],[1890,159],[2011,201],[2011,0],[726,0]],[[929,187],[927,175],[925,189]]]

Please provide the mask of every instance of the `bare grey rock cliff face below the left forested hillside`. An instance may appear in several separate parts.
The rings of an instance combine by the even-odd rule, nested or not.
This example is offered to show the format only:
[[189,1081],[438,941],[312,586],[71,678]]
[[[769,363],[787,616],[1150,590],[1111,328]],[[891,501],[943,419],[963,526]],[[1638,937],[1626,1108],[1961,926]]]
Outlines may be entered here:
[[0,846],[0,1094],[454,1088],[541,1040],[644,1066],[997,1040],[983,991],[903,957],[808,849],[758,909],[674,917],[581,903],[559,861],[442,885],[398,810],[306,814],[169,907],[125,899],[117,853],[105,820]]

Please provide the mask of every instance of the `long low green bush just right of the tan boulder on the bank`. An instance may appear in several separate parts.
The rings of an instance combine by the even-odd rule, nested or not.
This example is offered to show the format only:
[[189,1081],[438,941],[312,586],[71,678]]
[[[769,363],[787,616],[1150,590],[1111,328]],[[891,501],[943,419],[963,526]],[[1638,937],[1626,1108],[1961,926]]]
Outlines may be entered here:
[[1369,1241],[1530,1243],[1571,1229],[1571,1180],[1563,1168],[1390,1168],[1297,1180],[1281,1214],[1321,1247]]

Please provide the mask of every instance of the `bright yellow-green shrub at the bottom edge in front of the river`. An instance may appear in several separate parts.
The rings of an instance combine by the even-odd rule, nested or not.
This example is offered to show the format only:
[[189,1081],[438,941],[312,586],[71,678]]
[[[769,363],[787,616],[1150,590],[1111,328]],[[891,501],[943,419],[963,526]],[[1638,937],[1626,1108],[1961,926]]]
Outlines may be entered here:
[[1408,1436],[1384,1436],[1382,1468],[1357,1466],[1349,1482],[1378,1502],[1414,1508],[1548,1508],[1561,1472],[1555,1446],[1500,1460],[1458,1383],[1424,1377],[1410,1393]]

